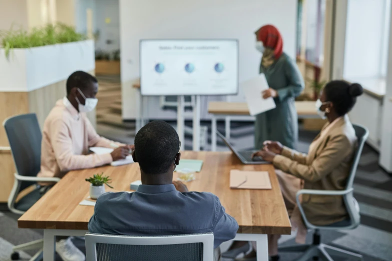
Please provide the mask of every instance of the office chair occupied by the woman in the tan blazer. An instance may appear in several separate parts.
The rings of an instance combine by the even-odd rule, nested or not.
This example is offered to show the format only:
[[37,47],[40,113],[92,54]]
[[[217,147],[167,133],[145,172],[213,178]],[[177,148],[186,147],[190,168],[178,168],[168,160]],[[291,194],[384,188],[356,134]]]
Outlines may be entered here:
[[[351,165],[351,169],[348,175],[348,180],[345,189],[344,190],[301,189],[297,192],[296,201],[297,201],[298,208],[301,212],[302,219],[308,229],[315,229],[313,234],[313,242],[311,244],[279,247],[279,251],[281,252],[305,251],[304,254],[299,259],[297,259],[297,261],[306,261],[309,260],[310,258],[313,258],[313,260],[318,260],[319,257],[321,257],[322,260],[333,261],[329,253],[343,258],[350,258],[350,260],[362,260],[362,255],[360,254],[321,243],[321,235],[320,235],[320,229],[323,230],[354,229],[360,223],[359,205],[353,196],[354,188],[352,187],[352,184],[354,182],[355,172],[358,166],[360,155],[362,153],[363,145],[365,144],[367,136],[369,135],[369,131],[365,127],[360,125],[352,124],[352,126],[354,127],[355,135],[358,139],[358,147],[354,154],[354,159]],[[301,206],[301,202],[299,201],[299,195],[301,194],[343,196],[343,200],[349,215],[349,220],[340,221],[328,226],[319,226],[319,225],[311,224],[307,220],[306,214]]]

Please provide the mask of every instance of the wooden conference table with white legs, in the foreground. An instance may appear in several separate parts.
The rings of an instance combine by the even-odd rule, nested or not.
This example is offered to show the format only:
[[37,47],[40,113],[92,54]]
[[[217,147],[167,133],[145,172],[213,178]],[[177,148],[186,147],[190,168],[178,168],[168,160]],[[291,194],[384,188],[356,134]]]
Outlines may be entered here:
[[[190,191],[208,191],[219,196],[227,213],[239,224],[236,240],[257,242],[257,260],[268,260],[267,234],[290,234],[291,224],[272,165],[244,165],[231,152],[184,151],[183,158],[202,159],[201,172],[188,182]],[[230,169],[265,170],[272,189],[230,189]],[[20,228],[44,229],[44,260],[54,260],[56,235],[85,235],[93,206],[79,203],[89,195],[85,178],[104,172],[116,190],[130,190],[140,180],[138,163],[70,171],[18,219]],[[175,173],[176,175],[176,173]]]

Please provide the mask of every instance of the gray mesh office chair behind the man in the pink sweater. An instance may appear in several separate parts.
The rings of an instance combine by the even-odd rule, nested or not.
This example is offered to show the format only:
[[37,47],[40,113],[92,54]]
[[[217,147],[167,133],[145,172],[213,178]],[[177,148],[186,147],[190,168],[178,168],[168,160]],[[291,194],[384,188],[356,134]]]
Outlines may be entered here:
[[[41,141],[42,133],[35,113],[23,114],[6,119],[3,123],[11,152],[14,158],[15,173],[14,186],[8,198],[8,207],[17,214],[26,212],[35,202],[41,198],[40,187],[37,182],[57,182],[57,177],[37,177],[41,169]],[[34,189],[16,201],[18,194],[25,188],[35,185]],[[42,255],[44,241],[16,245],[13,247],[12,260],[19,259],[20,250],[41,248],[30,260],[39,259]]]

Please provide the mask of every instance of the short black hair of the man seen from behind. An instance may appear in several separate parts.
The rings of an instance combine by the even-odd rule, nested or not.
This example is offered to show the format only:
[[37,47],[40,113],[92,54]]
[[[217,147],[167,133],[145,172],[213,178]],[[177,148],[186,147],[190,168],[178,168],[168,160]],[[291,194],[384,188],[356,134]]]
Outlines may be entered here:
[[146,174],[165,173],[180,150],[177,131],[163,120],[142,127],[135,137],[135,156]]

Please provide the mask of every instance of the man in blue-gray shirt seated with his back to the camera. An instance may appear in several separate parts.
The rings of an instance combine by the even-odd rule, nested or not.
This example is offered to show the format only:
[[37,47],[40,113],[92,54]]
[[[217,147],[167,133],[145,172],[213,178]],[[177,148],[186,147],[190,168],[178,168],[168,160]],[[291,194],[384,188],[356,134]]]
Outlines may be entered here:
[[89,231],[120,235],[213,232],[218,257],[219,245],[235,237],[237,221],[225,213],[216,195],[188,192],[185,184],[173,181],[181,157],[180,144],[176,130],[165,121],[152,121],[142,127],[132,154],[139,162],[142,185],[133,193],[101,195]]

